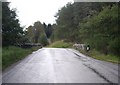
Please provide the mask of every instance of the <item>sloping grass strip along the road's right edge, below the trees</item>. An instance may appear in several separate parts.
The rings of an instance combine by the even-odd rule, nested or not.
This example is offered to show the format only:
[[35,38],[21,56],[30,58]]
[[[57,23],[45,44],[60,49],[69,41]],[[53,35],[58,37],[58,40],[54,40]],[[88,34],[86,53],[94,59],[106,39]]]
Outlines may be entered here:
[[105,54],[100,53],[96,50],[90,50],[89,52],[85,52],[85,51],[80,51],[80,52],[85,54],[85,55],[88,55],[94,59],[120,64],[120,57],[119,56],[115,56],[115,55],[111,55],[111,54],[105,55]]

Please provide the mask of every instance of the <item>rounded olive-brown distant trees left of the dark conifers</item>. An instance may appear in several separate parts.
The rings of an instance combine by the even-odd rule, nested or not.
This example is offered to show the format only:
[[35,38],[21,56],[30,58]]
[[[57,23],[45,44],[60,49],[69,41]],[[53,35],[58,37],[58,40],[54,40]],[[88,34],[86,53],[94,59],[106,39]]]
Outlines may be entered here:
[[41,22],[37,21],[34,23],[34,26],[27,28],[26,37],[31,43],[41,43],[43,46],[46,46],[48,41],[44,28],[46,28],[45,23],[41,24]]

